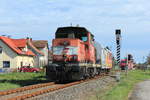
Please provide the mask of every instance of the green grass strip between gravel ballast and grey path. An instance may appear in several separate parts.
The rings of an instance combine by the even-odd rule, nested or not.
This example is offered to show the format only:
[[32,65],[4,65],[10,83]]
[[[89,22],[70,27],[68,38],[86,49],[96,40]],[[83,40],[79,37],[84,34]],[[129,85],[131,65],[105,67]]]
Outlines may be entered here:
[[122,74],[121,81],[110,86],[104,92],[97,92],[88,100],[128,100],[129,93],[136,83],[150,79],[150,71],[133,70],[128,75]]

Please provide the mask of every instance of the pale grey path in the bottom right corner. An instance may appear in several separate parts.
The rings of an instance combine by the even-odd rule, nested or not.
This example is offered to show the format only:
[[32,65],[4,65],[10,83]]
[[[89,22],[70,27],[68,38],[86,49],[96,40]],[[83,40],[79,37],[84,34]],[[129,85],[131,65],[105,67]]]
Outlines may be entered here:
[[138,83],[129,100],[150,100],[150,80]]

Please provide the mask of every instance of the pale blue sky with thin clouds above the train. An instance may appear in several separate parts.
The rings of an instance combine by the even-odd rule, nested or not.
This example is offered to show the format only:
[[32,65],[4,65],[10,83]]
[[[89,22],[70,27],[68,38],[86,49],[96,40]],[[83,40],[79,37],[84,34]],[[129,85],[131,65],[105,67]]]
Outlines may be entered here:
[[122,56],[143,61],[150,51],[149,0],[0,0],[0,35],[52,40],[57,27],[79,24],[115,51],[122,30]]

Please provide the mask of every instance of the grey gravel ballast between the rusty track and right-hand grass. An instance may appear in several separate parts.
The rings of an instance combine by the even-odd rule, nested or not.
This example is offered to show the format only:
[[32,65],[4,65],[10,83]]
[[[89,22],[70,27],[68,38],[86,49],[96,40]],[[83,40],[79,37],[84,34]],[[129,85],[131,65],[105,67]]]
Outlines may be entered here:
[[114,82],[116,82],[114,78],[106,76],[97,80],[91,80],[58,91],[36,96],[28,100],[83,100],[91,93],[102,90]]

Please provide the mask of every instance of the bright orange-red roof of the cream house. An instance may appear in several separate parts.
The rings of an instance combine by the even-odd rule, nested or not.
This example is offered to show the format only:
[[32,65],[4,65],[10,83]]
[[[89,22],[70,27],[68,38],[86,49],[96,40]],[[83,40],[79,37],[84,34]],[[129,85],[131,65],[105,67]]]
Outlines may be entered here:
[[30,50],[24,52],[20,49],[20,47],[26,46],[27,39],[11,39],[8,37],[0,36],[0,40],[2,40],[8,47],[10,47],[19,55],[35,56],[35,54]]

